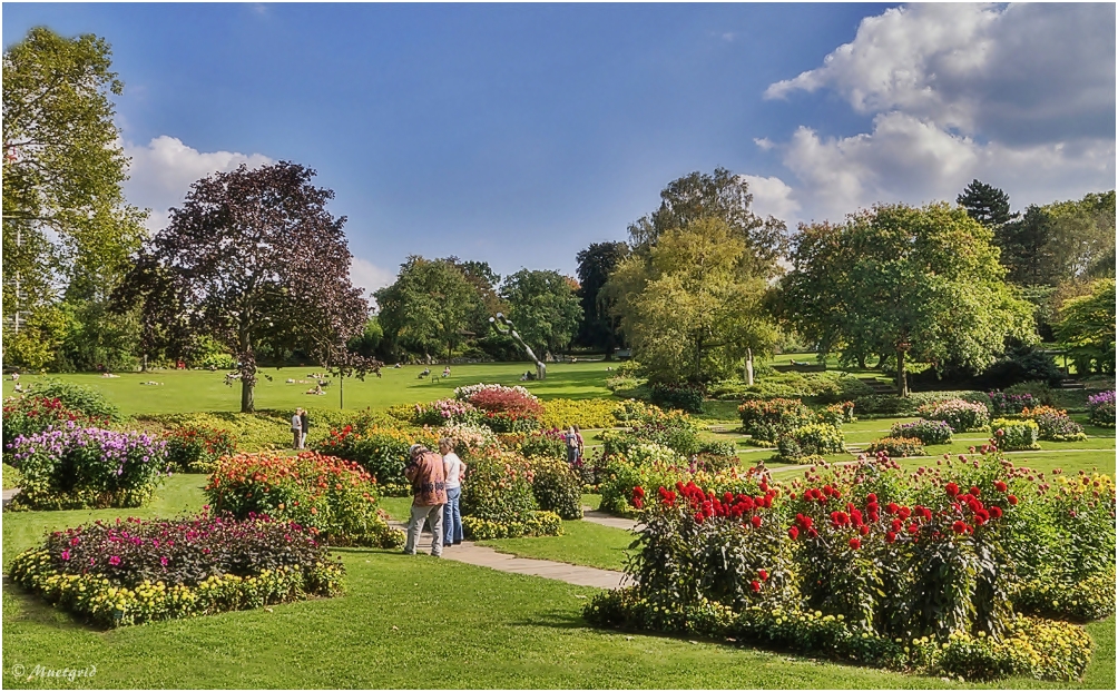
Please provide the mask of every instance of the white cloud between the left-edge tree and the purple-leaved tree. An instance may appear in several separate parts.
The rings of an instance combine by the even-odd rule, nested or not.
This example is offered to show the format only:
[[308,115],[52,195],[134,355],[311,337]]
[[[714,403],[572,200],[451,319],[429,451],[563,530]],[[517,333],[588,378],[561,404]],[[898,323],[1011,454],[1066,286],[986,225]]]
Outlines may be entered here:
[[191,183],[211,173],[233,171],[243,163],[250,169],[272,163],[264,154],[199,152],[168,135],[146,145],[125,143],[124,153],[132,158],[124,193],[132,204],[151,209],[150,231],[167,225],[168,210],[182,203]]

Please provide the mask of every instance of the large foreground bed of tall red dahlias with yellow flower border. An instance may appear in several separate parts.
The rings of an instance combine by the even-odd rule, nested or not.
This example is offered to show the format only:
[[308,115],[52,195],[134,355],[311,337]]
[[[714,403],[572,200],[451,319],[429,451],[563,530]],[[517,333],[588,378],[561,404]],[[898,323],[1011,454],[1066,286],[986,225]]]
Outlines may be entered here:
[[[1114,484],[1057,479],[998,454],[913,474],[881,454],[781,483],[755,473],[739,482],[756,491],[740,494],[701,482],[634,488],[645,504],[627,567],[636,586],[584,614],[932,674],[1076,680],[1090,659],[1086,632],[1011,605],[1038,611],[1014,588],[1020,575],[1097,596],[1087,606],[1048,598],[1054,616],[1112,612]],[[1061,561],[1059,574],[1038,571]]]

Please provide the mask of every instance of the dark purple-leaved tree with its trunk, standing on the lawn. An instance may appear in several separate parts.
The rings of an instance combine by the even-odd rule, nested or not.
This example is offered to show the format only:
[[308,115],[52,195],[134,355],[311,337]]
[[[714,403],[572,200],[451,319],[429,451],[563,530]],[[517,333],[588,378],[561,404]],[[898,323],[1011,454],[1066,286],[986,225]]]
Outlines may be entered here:
[[333,192],[312,177],[314,171],[281,161],[197,181],[148,243],[152,259],[130,276],[133,295],[163,298],[163,309],[181,301],[193,333],[233,353],[245,412],[254,410],[259,355],[297,348],[335,366],[349,361],[344,344],[368,318],[349,278],[345,219],[326,211]]

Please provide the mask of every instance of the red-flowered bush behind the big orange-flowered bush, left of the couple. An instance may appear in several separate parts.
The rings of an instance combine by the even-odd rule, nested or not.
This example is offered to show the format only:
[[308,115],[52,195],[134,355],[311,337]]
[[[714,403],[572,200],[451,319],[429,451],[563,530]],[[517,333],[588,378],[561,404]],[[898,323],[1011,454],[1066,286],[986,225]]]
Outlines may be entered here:
[[411,461],[408,449],[413,444],[437,450],[438,435],[426,427],[400,430],[373,425],[358,431],[352,425],[345,425],[341,430],[331,430],[330,435],[312,449],[328,456],[356,461],[377,480],[381,494],[402,497],[410,489],[404,478],[404,468]]

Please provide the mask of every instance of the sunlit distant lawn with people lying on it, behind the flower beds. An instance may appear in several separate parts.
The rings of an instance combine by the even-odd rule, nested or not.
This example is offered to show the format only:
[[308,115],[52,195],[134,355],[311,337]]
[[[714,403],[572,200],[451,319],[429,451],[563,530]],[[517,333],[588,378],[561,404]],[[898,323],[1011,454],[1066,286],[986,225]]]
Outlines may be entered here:
[[[454,365],[452,376],[439,377],[443,367],[430,366],[434,377],[419,379],[421,365],[405,365],[400,368],[382,369],[383,377],[347,379],[344,382],[345,409],[385,407],[392,404],[428,402],[453,396],[454,388],[479,382],[505,385],[521,384],[542,398],[594,398],[610,396],[605,386],[605,363],[552,363],[548,365],[548,378],[543,382],[520,382],[520,375],[528,369],[525,363],[491,363],[481,365]],[[256,386],[257,409],[294,409],[295,406],[337,407],[338,383],[326,387],[324,396],[304,394],[311,384],[285,384],[285,379],[306,379],[306,375],[319,371],[315,366],[303,368],[263,369]],[[269,382],[264,375],[272,377]],[[154,371],[150,373],[121,373],[120,377],[102,377],[92,373],[70,375],[48,375],[57,379],[77,382],[103,393],[126,415],[146,413],[191,413],[196,411],[239,411],[240,384],[225,385],[225,373],[208,371]],[[39,379],[37,375],[23,375],[25,386]],[[143,385],[144,382],[161,385]],[[3,381],[3,395],[11,396],[13,383]]]

